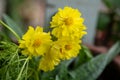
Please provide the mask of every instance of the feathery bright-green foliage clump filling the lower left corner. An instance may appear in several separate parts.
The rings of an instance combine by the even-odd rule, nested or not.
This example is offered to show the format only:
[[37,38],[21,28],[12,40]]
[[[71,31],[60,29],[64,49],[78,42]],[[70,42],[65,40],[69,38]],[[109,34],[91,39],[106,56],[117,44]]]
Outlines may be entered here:
[[[0,80],[26,80],[29,57],[19,54],[19,48],[12,42],[0,42]],[[33,65],[33,64],[32,64]],[[35,68],[36,69],[36,68]],[[33,79],[32,79],[33,80]],[[37,79],[34,79],[37,80]]]

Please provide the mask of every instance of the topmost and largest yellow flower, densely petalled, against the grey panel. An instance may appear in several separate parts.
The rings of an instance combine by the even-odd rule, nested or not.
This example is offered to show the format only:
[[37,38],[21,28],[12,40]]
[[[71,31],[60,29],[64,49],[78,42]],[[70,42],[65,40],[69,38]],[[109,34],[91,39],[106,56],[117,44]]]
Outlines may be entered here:
[[51,28],[52,34],[57,38],[70,36],[71,38],[80,38],[85,35],[86,26],[83,24],[84,19],[78,9],[65,7],[59,9],[55,16],[52,17]]

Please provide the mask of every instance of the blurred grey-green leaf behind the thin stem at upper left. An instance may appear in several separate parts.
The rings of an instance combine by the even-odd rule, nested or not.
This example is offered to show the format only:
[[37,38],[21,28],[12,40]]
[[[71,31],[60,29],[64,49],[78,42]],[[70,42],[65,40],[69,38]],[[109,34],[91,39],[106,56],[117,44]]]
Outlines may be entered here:
[[3,19],[9,25],[11,29],[13,29],[20,37],[23,35],[23,31],[20,26],[18,26],[15,21],[13,21],[9,16],[4,15]]

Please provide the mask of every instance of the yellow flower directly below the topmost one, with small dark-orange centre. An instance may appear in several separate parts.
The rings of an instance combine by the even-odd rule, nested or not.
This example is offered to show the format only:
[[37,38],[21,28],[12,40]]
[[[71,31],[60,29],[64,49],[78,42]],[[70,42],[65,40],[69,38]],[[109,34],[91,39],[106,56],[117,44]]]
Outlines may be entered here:
[[59,58],[70,59],[76,57],[79,53],[80,47],[79,40],[70,40],[68,38],[62,38],[54,42],[53,47],[56,49],[56,53],[59,54]]

